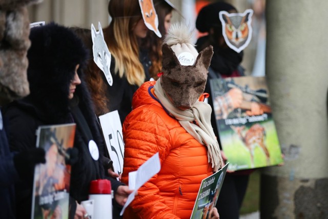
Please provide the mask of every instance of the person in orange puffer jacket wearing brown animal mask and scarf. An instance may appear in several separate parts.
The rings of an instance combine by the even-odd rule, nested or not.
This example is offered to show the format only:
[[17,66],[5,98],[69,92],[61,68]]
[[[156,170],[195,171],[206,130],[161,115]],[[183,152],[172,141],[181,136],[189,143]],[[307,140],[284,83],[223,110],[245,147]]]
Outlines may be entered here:
[[171,26],[162,47],[163,74],[136,91],[124,122],[122,182],[157,152],[161,165],[138,189],[124,218],[190,218],[201,181],[222,167],[211,107],[199,101],[213,50],[198,54],[191,35],[185,25]]

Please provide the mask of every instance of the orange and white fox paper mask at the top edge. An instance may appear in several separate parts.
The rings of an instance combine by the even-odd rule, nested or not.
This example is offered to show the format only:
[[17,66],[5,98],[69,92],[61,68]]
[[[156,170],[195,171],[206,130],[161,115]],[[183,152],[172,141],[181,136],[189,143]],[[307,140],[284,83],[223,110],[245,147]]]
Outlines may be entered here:
[[158,37],[162,37],[158,30],[158,16],[155,11],[153,0],[139,0],[142,18],[148,29],[154,31]]

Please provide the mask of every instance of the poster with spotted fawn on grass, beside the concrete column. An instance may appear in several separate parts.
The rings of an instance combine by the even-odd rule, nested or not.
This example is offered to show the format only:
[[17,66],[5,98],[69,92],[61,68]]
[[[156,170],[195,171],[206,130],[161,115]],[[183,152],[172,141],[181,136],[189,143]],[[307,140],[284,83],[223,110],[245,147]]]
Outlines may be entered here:
[[211,79],[213,107],[229,170],[283,162],[265,77]]

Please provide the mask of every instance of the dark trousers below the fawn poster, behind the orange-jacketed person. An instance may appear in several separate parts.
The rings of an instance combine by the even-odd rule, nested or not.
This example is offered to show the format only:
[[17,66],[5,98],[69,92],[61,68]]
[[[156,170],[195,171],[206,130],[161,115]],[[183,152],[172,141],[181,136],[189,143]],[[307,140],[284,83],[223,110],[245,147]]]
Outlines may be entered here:
[[239,210],[247,189],[248,181],[249,175],[226,174],[216,203],[220,219],[239,218]]

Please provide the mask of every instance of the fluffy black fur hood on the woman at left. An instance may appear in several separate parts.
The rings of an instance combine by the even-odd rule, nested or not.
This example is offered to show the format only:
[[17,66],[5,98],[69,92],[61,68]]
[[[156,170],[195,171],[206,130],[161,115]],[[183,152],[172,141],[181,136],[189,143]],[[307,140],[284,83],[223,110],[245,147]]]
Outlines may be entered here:
[[32,28],[30,40],[27,54],[29,98],[47,113],[66,114],[70,81],[77,64],[80,65],[79,77],[83,78],[88,50],[73,31],[55,23]]

